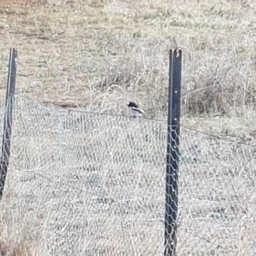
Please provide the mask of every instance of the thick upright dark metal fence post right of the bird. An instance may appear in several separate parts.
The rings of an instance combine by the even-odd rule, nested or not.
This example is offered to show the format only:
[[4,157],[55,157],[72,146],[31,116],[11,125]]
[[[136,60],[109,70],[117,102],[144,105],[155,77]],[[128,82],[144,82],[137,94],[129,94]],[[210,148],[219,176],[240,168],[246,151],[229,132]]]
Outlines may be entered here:
[[170,50],[168,136],[166,157],[166,202],[164,256],[175,256],[177,246],[178,178],[180,143],[180,94],[182,51]]

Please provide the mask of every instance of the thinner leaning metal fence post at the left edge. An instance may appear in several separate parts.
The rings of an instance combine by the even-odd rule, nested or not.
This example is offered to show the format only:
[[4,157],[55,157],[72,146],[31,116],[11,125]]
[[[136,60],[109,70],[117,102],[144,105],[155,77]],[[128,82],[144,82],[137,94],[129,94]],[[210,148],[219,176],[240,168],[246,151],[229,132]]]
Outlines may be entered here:
[[10,158],[10,147],[12,139],[12,111],[13,101],[15,94],[15,82],[17,72],[17,55],[18,52],[15,48],[10,49],[10,59],[8,68],[8,82],[6,89],[6,100],[5,100],[5,111],[4,111],[4,132],[3,132],[3,144],[0,159],[0,200],[3,197],[4,184],[6,180],[9,158]]

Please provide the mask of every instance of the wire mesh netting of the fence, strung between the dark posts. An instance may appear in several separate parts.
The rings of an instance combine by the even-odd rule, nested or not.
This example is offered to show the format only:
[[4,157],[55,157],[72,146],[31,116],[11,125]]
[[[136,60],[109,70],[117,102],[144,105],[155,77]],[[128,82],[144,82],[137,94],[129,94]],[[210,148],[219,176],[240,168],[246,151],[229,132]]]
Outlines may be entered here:
[[[3,239],[38,255],[163,255],[166,128],[15,96]],[[180,134],[177,254],[253,255],[255,147]]]

